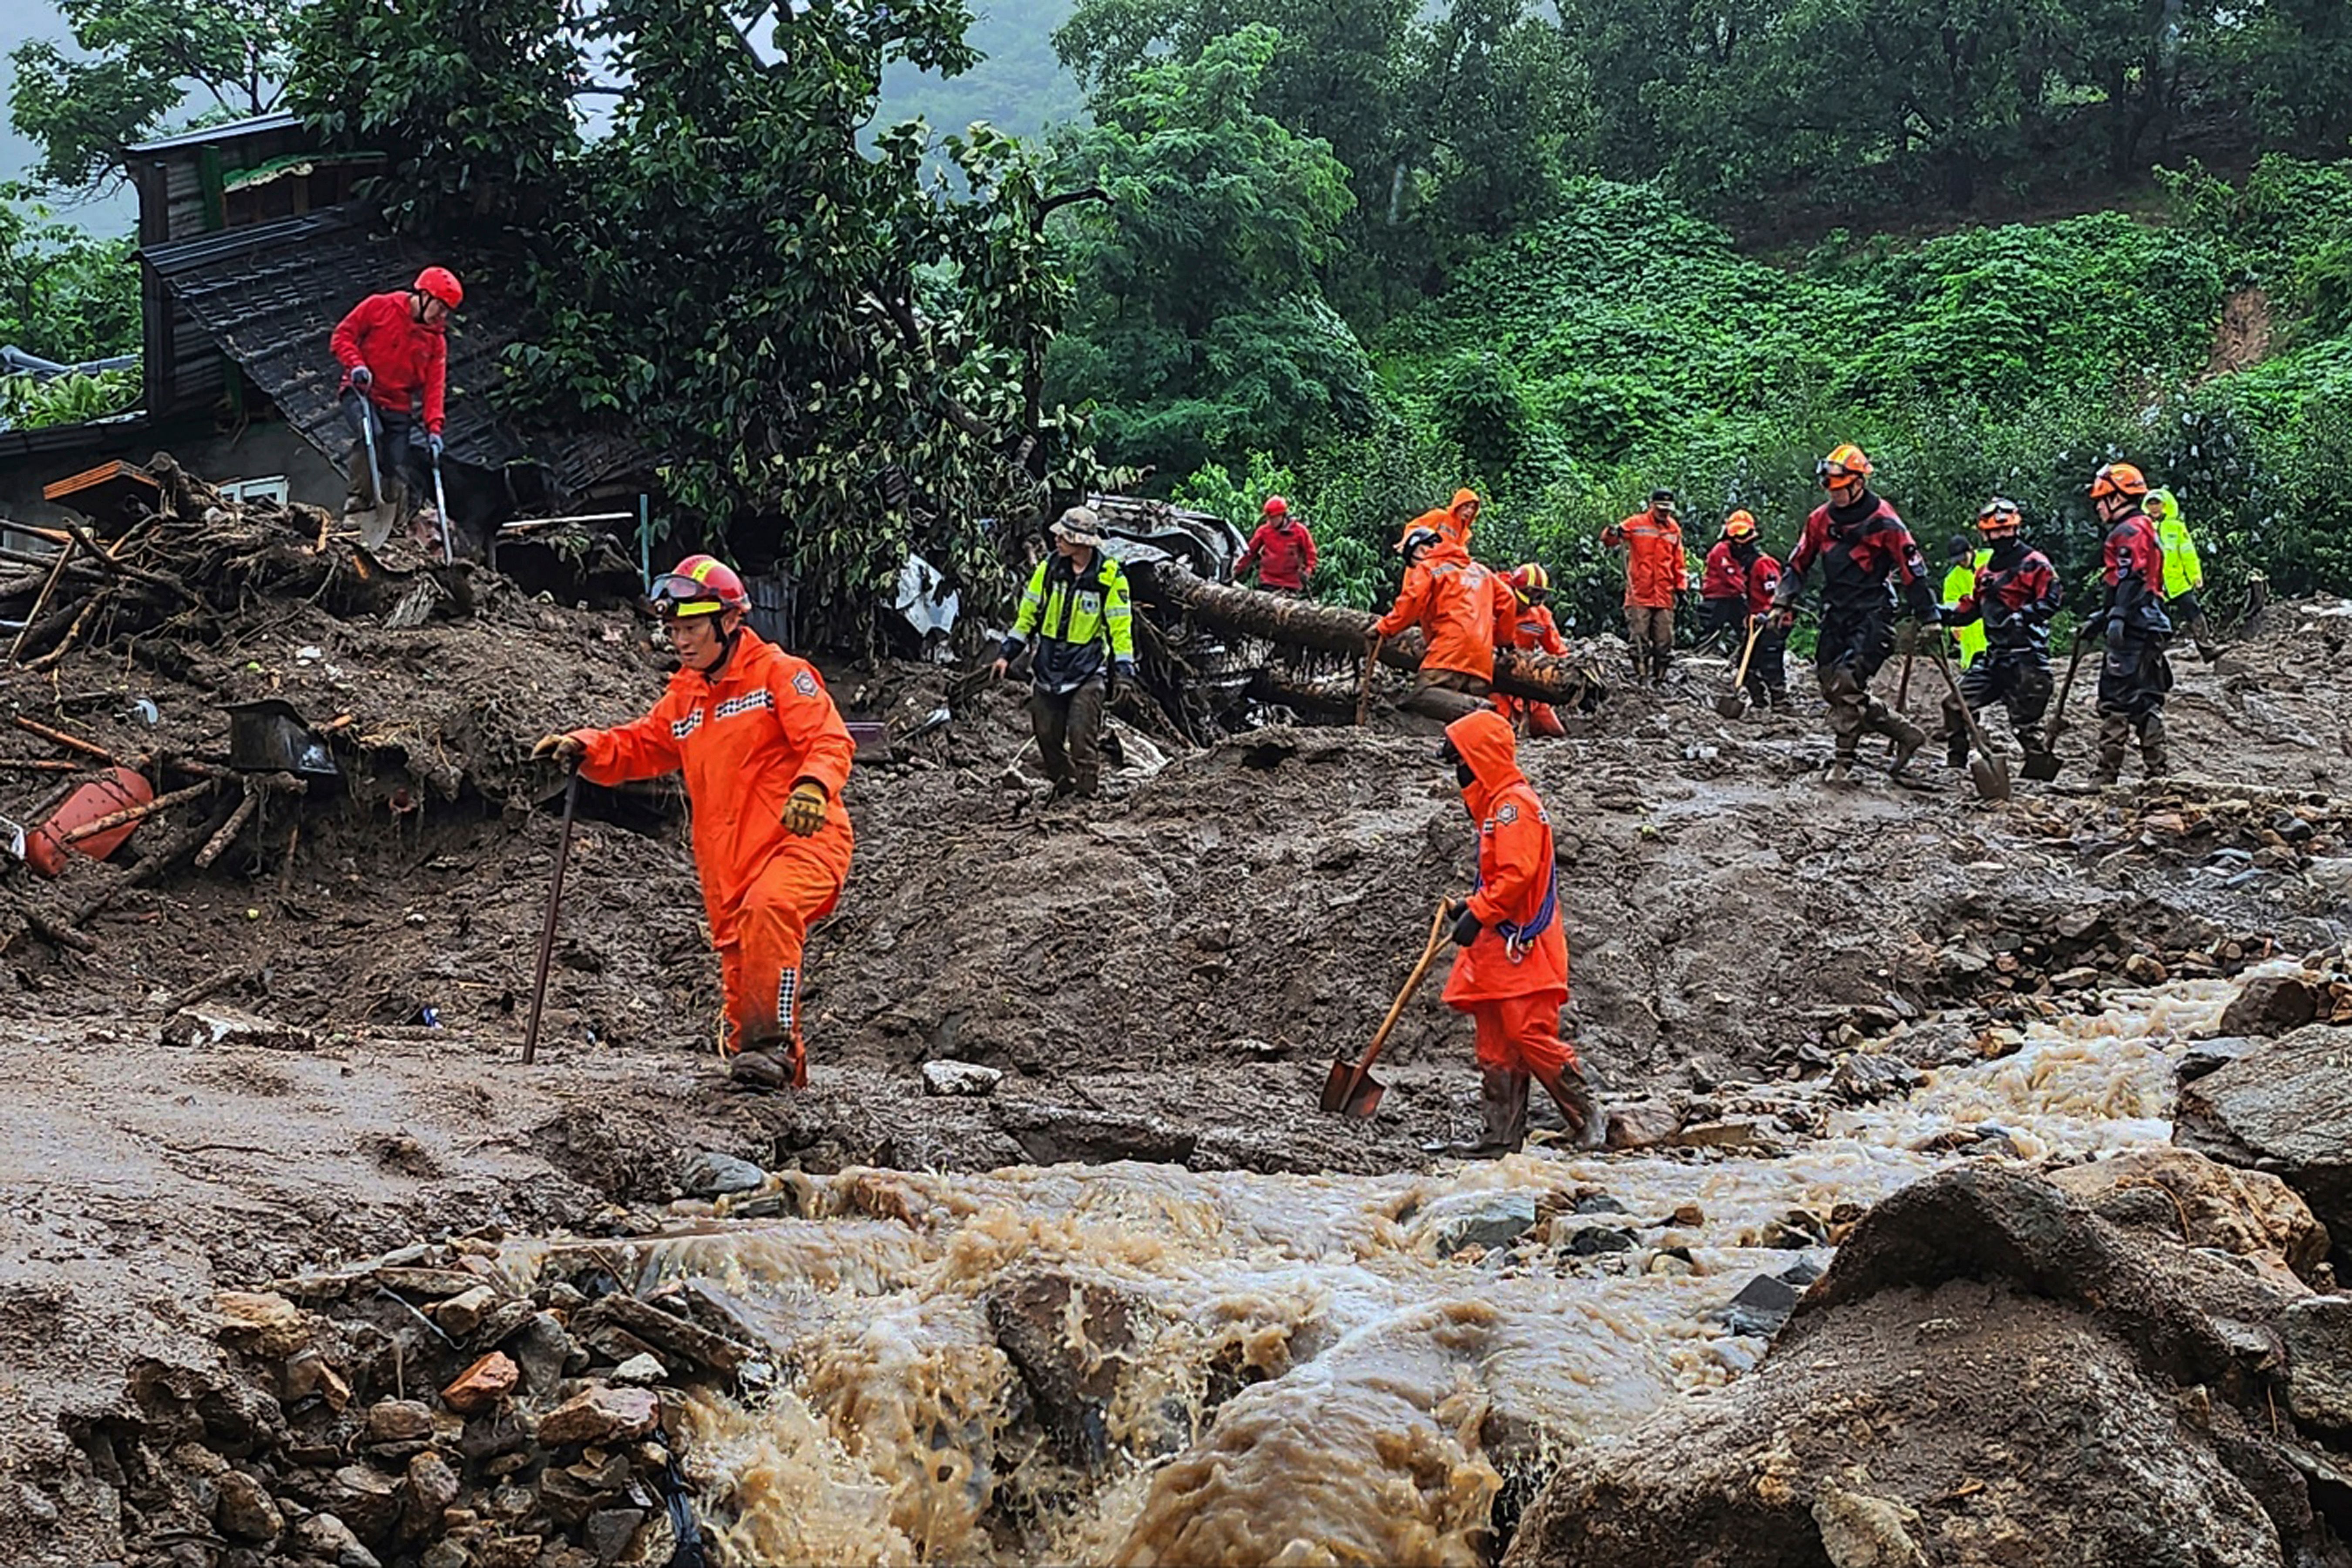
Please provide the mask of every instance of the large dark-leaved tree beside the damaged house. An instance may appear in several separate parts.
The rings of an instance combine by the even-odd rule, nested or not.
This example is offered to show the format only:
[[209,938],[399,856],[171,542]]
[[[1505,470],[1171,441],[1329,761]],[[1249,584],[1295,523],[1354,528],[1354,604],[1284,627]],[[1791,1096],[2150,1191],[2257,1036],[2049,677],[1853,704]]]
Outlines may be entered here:
[[[473,0],[402,7],[369,47],[442,52],[447,71],[485,75],[470,92],[492,106],[548,92],[569,73],[555,7],[494,2],[496,47],[461,63],[445,28],[463,24],[437,12]],[[1049,190],[1042,160],[985,127],[943,148],[967,197],[927,172],[920,125],[858,148],[884,63],[971,63],[960,0],[609,0],[583,42],[616,85],[569,82],[614,99],[593,143],[496,113],[452,141],[430,66],[386,73],[362,113],[341,96],[334,40],[381,16],[376,0],[318,9],[296,61],[313,125],[405,148],[428,176],[468,169],[440,190],[463,200],[393,188],[386,207],[447,221],[529,303],[499,402],[659,451],[670,510],[746,564],[781,559],[818,635],[870,630],[873,590],[908,550],[1002,585],[988,520],[1040,517],[1103,477],[1042,386],[1068,296],[1047,219],[1084,193]],[[487,207],[482,188],[499,190]]]

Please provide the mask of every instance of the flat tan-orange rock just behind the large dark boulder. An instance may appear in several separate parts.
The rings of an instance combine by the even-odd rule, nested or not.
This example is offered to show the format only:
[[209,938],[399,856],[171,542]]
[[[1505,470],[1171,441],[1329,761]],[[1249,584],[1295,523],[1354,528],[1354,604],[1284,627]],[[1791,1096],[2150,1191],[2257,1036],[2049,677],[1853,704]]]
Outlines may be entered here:
[[2328,1255],[2328,1232],[2293,1187],[2265,1171],[2223,1166],[2192,1150],[2129,1150],[2051,1171],[2049,1180],[2103,1220],[2190,1246],[2274,1258],[2305,1276]]

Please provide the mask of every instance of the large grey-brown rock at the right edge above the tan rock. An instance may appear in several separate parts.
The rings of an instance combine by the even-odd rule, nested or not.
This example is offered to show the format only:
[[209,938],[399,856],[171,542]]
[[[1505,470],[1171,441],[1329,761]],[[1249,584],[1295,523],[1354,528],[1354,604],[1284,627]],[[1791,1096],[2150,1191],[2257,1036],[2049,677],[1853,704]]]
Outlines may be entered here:
[[2352,1030],[2314,1025],[2180,1086],[2173,1143],[2270,1171],[2352,1239]]

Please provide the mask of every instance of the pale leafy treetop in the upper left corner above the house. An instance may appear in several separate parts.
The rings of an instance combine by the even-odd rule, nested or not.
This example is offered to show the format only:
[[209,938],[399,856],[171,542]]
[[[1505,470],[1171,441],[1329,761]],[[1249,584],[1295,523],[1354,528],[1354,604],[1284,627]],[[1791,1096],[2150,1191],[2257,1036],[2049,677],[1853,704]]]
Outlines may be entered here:
[[[153,136],[191,96],[205,115],[263,115],[287,71],[296,0],[56,0],[73,59],[54,42],[16,45],[9,122],[40,146],[33,176],[82,190],[125,176],[125,148]],[[205,118],[200,115],[200,118]]]

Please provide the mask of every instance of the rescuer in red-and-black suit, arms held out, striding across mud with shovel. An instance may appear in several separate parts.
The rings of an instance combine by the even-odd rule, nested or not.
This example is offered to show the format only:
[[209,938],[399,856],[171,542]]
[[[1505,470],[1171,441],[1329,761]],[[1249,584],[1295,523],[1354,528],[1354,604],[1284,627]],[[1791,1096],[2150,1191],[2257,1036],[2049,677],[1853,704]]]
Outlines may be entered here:
[[1896,646],[1896,585],[1919,625],[1933,630],[1943,623],[1943,611],[1929,588],[1919,541],[1903,527],[1896,508],[1870,489],[1870,458],[1863,449],[1839,447],[1820,458],[1816,473],[1830,498],[1804,520],[1804,534],[1773,595],[1773,623],[1783,632],[1795,625],[1804,578],[1813,562],[1820,562],[1820,642],[1813,651],[1813,672],[1820,679],[1820,696],[1830,703],[1830,731],[1837,736],[1830,783],[1853,778],[1853,755],[1863,731],[1896,743],[1891,771],[1903,773],[1926,745],[1926,731],[1875,698],[1870,677]]

